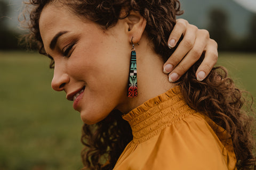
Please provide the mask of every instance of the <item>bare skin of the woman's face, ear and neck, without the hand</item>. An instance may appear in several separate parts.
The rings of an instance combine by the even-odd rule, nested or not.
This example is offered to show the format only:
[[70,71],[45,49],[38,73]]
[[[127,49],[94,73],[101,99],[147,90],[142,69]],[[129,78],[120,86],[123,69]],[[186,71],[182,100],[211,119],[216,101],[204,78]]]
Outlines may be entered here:
[[[85,87],[73,104],[81,113],[84,123],[97,123],[113,109],[129,112],[174,87],[163,73],[164,63],[147,39],[145,27],[146,20],[134,12],[126,19],[119,20],[114,27],[102,30],[97,24],[80,19],[67,8],[55,4],[44,7],[39,29],[46,53],[55,62],[52,88],[65,91],[67,98],[73,99],[76,92]],[[56,41],[56,46],[51,48],[51,41],[59,32],[62,35]],[[135,46],[139,88],[137,98],[126,96],[132,37],[134,44],[140,42],[140,46]],[[67,49],[70,52],[63,56]]]

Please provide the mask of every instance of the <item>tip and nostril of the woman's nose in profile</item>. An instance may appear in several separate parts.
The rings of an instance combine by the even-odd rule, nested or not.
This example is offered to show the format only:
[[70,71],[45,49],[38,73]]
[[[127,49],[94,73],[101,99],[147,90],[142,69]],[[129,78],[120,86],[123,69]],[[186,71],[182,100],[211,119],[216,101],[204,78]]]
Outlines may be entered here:
[[62,91],[65,85],[69,82],[69,75],[61,70],[54,67],[54,74],[52,78],[52,89],[56,91]]

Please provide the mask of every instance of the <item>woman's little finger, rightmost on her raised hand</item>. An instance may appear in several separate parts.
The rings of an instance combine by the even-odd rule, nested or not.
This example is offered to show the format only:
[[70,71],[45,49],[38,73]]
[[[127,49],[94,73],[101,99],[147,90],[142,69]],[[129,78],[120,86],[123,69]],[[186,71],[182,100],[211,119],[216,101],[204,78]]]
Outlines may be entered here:
[[205,47],[205,57],[201,65],[196,71],[198,81],[202,81],[210,73],[213,66],[218,60],[218,44],[213,39],[210,39]]

